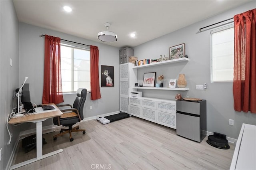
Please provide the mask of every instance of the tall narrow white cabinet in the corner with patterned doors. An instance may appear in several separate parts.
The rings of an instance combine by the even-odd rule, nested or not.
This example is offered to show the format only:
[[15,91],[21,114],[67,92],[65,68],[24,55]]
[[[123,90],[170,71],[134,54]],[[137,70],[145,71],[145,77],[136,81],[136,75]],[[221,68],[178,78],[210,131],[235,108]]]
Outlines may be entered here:
[[133,63],[119,65],[119,109],[124,113],[129,113],[129,96],[132,87],[136,83],[137,70],[132,69]]

